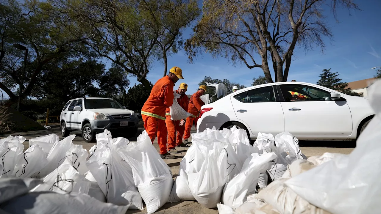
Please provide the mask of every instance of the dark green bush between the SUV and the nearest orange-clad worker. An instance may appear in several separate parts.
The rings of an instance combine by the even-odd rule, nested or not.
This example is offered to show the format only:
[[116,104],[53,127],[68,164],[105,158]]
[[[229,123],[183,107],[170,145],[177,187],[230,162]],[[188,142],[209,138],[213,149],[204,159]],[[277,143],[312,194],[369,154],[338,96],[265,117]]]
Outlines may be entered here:
[[114,99],[120,104],[125,105],[127,109],[140,113],[144,103],[147,101],[149,94],[151,93],[153,85],[150,83],[150,88],[146,88],[144,85],[134,85],[128,89],[128,93],[122,94],[122,96],[115,97]]

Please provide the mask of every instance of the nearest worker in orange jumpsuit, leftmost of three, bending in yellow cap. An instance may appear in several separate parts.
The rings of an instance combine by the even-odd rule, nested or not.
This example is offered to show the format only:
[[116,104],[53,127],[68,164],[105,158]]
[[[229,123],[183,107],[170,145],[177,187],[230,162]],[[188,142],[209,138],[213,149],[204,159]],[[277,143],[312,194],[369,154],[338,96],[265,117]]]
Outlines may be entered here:
[[168,75],[158,80],[151,90],[151,93],[144,103],[141,115],[151,142],[154,143],[157,135],[157,142],[160,147],[160,157],[174,159],[166,150],[167,128],[165,126],[165,110],[173,104],[173,86],[182,77],[182,70],[179,67],[173,67]]

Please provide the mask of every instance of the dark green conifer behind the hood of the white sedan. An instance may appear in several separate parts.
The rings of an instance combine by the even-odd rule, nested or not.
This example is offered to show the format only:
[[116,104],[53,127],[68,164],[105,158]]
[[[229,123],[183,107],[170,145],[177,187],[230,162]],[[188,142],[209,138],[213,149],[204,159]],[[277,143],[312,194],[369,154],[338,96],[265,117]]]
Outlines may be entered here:
[[337,72],[333,73],[330,70],[331,69],[323,70],[323,73],[320,75],[320,80],[318,80],[316,83],[317,85],[321,85],[344,94],[359,96],[358,93],[352,92],[351,88],[347,88],[348,83],[341,82],[342,79],[338,78],[339,75]]

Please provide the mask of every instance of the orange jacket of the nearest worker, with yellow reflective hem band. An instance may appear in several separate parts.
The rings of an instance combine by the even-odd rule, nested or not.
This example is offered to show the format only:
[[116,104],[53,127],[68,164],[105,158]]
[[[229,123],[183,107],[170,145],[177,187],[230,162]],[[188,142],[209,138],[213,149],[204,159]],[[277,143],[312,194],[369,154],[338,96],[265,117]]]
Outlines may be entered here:
[[144,103],[141,114],[165,120],[165,110],[173,104],[173,86],[174,83],[168,75],[159,79]]

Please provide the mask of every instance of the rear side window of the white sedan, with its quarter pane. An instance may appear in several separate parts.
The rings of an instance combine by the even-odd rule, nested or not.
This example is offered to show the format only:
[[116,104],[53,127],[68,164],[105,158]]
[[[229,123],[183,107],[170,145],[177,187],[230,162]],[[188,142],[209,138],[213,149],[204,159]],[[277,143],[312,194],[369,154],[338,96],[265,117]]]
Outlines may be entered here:
[[240,102],[275,102],[272,86],[251,89],[234,96]]

